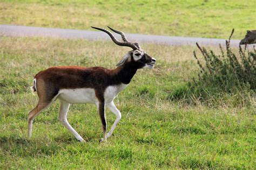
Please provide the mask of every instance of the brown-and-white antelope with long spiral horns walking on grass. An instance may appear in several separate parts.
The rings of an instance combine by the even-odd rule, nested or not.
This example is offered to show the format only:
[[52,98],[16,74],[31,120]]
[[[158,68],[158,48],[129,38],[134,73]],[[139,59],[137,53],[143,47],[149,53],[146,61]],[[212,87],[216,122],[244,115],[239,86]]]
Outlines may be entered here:
[[[117,68],[107,69],[103,67],[51,67],[37,73],[33,79],[32,91],[37,91],[38,104],[28,114],[28,137],[32,134],[32,123],[43,109],[49,107],[57,98],[60,100],[58,120],[68,129],[79,141],[84,139],[69,124],[66,115],[72,103],[93,103],[96,104],[99,117],[102,122],[103,139],[106,141],[111,136],[117,123],[120,121],[121,113],[114,105],[114,98],[130,83],[133,75],[139,68],[154,67],[156,60],[147,55],[137,42],[127,40],[121,31],[111,29],[122,35],[122,41],[118,41],[110,31],[92,27],[109,34],[113,42],[119,46],[131,47],[133,50],[126,53],[122,60],[117,63]],[[109,108],[116,120],[110,131],[106,133],[105,107]]]

